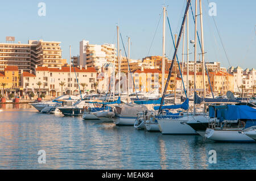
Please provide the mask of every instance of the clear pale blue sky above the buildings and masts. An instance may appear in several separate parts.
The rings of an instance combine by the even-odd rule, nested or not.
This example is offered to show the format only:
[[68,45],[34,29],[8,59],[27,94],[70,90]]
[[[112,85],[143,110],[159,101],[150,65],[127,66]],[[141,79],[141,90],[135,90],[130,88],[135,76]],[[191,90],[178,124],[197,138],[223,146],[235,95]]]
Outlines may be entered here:
[[[61,41],[63,58],[69,60],[69,45],[72,46],[72,56],[77,55],[79,54],[79,41],[82,39],[89,40],[90,44],[117,44],[116,26],[118,25],[126,51],[127,37],[131,37],[131,58],[162,56],[163,6],[167,7],[172,33],[178,34],[186,1],[1,1],[0,42],[5,43],[6,36],[15,36],[16,43],[40,39]],[[46,16],[38,15],[40,2],[46,4]],[[195,14],[195,0],[191,2]],[[216,3],[216,16],[209,16],[208,2]],[[203,0],[206,61],[220,61],[221,66],[225,68],[241,66],[243,69],[256,69],[255,7],[255,0]],[[214,25],[213,17],[220,36]],[[201,35],[200,19],[198,22],[197,28]],[[193,39],[194,23],[192,14],[189,12],[189,40]],[[122,46],[121,41],[120,45]],[[122,48],[122,55],[125,56],[123,52]],[[189,55],[189,60],[193,61],[192,44],[189,44],[189,53],[192,53]],[[199,53],[198,51],[197,59],[201,60]],[[166,56],[172,58],[173,54],[174,47],[166,21]],[[181,54],[182,39],[178,50],[179,61],[181,61]]]

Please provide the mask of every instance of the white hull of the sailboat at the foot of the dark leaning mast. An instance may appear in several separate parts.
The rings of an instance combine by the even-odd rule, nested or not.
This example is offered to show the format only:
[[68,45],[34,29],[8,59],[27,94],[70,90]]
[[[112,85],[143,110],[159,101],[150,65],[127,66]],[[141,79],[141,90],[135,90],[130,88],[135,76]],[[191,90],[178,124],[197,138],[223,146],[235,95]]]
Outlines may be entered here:
[[179,119],[158,119],[160,132],[162,134],[198,134],[187,123],[188,117],[180,117]]

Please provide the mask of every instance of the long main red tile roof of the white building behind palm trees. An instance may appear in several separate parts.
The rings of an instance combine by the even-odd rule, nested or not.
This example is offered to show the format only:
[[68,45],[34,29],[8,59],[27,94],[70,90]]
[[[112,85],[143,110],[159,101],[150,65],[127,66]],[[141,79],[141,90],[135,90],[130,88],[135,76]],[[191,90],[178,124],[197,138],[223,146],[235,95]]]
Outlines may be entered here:
[[[95,68],[75,68],[76,72],[97,72]],[[36,68],[36,71],[52,71],[52,72],[69,72],[70,68],[67,66],[63,66],[61,69],[59,68],[48,68],[48,67],[42,67],[39,66]],[[74,68],[71,68],[71,72],[74,72]]]

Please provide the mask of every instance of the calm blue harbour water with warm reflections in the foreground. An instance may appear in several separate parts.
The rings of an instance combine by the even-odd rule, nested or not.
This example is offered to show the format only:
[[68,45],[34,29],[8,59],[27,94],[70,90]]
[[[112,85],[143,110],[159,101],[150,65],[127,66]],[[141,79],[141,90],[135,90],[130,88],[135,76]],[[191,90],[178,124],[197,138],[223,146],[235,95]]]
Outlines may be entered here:
[[[163,136],[3,105],[0,169],[256,169],[256,144],[204,142],[200,136]],[[38,151],[46,151],[46,164]],[[217,163],[208,162],[209,150]]]

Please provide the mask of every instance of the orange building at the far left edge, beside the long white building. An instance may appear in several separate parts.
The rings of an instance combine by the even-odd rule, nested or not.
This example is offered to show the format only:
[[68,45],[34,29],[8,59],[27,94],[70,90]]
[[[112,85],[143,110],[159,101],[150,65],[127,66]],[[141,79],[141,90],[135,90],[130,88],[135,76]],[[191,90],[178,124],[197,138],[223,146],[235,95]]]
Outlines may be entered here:
[[[5,83],[5,86],[2,86]],[[3,88],[4,91],[3,92]],[[19,69],[18,66],[5,66],[3,71],[0,71],[0,89],[3,94],[19,92]]]

